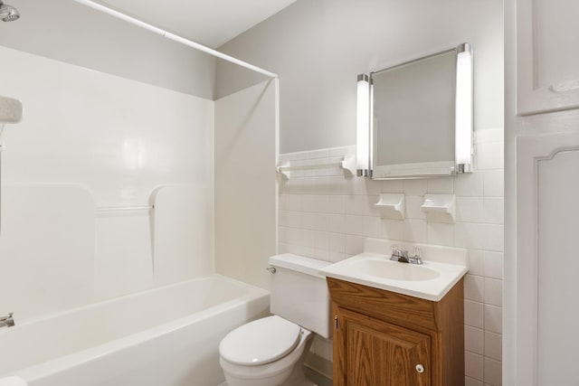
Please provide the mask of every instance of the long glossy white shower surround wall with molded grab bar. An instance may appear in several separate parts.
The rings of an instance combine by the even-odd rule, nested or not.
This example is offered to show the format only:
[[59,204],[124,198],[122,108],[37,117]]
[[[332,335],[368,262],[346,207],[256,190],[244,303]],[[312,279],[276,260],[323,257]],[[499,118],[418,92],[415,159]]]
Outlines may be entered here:
[[[0,47],[0,305],[16,324],[214,272],[214,102]],[[25,80],[25,81],[24,81]]]

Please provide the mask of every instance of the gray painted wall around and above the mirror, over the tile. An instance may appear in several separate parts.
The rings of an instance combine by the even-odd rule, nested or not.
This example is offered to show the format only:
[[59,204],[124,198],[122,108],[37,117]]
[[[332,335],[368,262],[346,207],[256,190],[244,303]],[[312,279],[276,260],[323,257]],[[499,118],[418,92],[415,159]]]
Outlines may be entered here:
[[[298,0],[220,50],[280,75],[280,152],[356,143],[356,75],[470,42],[475,128],[503,127],[502,0]],[[217,63],[216,97],[261,78]]]

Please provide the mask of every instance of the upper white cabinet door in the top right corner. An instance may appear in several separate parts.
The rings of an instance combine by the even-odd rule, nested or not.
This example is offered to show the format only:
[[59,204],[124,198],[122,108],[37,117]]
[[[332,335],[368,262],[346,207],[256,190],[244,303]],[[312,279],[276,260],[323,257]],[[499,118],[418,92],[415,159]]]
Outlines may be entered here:
[[517,0],[517,114],[579,108],[579,2]]

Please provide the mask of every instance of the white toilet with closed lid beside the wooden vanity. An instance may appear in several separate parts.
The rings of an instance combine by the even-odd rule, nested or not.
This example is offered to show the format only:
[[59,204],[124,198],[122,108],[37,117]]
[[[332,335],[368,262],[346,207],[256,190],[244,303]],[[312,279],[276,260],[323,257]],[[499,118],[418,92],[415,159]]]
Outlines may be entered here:
[[326,279],[331,263],[284,254],[270,258],[273,316],[242,325],[219,345],[227,386],[300,386],[312,333],[331,337]]

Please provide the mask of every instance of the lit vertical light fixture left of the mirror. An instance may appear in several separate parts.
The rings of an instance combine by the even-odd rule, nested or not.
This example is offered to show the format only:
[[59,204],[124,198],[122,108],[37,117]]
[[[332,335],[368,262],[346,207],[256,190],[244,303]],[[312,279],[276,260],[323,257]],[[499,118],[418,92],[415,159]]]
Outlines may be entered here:
[[367,177],[370,169],[370,81],[358,75],[356,103],[356,175]]

